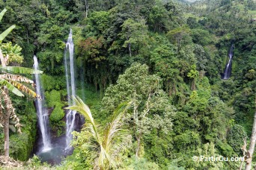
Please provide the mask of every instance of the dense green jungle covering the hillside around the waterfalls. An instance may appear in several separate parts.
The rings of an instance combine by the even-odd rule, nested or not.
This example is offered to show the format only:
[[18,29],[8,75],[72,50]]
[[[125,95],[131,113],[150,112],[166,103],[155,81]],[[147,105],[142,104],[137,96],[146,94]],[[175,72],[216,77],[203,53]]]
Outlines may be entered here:
[[[0,32],[16,28],[1,49],[7,42],[22,48],[22,64],[11,66],[32,68],[34,54],[40,60],[52,136],[65,133],[63,56],[72,28],[78,95],[101,136],[115,109],[133,101],[121,119],[130,141],[115,169],[239,169],[239,161],[192,157],[243,157],[244,140],[249,144],[256,110],[256,1],[0,1],[4,8]],[[231,78],[222,80],[232,44]],[[37,136],[34,99],[11,98],[22,134],[10,131],[10,157],[27,161]],[[94,169],[98,155],[86,146],[92,142],[87,132],[74,134],[75,150],[61,165],[33,157],[25,167]],[[0,146],[3,154],[1,127]]]

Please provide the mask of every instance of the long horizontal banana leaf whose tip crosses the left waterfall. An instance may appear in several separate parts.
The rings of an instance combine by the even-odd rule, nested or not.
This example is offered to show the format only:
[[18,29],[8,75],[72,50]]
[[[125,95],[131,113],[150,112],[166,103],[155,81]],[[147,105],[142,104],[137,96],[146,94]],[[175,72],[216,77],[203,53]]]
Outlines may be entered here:
[[14,74],[43,74],[43,71],[37,69],[29,69],[21,66],[0,66],[1,70],[12,72]]

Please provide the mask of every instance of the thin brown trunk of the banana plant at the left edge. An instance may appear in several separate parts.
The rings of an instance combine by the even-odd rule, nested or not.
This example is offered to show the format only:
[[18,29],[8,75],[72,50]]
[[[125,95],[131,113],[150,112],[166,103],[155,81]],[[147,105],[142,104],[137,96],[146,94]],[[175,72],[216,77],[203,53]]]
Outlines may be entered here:
[[9,121],[10,121],[10,98],[8,97],[8,89],[4,86],[3,98],[5,106],[4,114],[4,156],[9,157]]

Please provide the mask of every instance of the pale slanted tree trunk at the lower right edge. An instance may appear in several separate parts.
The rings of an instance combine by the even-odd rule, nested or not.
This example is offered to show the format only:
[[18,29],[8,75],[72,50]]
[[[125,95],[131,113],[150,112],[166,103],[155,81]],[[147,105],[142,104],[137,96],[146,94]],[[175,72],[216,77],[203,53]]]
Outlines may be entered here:
[[255,140],[256,140],[256,111],[255,111],[255,119],[252,126],[250,148],[246,154],[246,170],[251,170],[251,167],[252,167],[252,156],[253,156],[253,152],[255,151]]

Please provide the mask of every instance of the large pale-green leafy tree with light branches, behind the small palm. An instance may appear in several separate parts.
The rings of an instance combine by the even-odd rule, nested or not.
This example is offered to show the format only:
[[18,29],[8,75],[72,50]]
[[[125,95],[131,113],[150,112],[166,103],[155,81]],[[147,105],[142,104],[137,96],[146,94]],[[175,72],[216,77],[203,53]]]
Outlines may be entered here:
[[129,113],[130,127],[137,146],[136,157],[140,155],[143,136],[152,128],[168,133],[171,130],[171,117],[174,107],[162,90],[161,79],[149,75],[148,67],[139,63],[120,75],[118,84],[109,86],[103,98],[103,112],[111,113],[123,101],[132,100],[132,112]]

